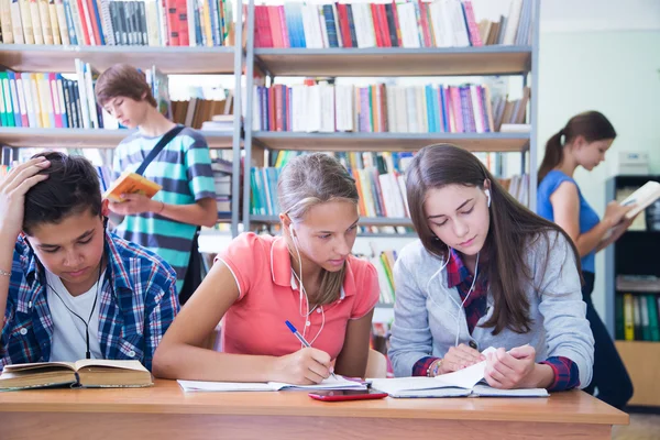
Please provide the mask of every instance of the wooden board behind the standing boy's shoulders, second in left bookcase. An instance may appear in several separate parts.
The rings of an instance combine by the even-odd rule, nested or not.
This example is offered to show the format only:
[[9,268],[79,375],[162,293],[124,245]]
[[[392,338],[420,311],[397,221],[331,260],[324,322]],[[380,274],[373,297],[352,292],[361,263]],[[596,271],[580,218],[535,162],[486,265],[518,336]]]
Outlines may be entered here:
[[[231,133],[215,131],[199,132],[205,136],[210,148],[226,150],[232,147]],[[0,145],[44,148],[114,148],[131,133],[131,130],[3,127],[0,130]]]

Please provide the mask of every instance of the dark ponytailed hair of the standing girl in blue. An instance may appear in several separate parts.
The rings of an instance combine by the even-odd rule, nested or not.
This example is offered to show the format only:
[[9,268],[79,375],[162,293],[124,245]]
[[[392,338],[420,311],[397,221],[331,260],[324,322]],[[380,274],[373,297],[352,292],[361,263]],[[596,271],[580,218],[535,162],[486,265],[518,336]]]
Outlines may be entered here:
[[598,111],[585,111],[569,119],[566,125],[554,133],[546,143],[546,154],[539,167],[540,184],[554,167],[563,161],[564,146],[582,136],[586,142],[615,139],[616,131],[612,122]]

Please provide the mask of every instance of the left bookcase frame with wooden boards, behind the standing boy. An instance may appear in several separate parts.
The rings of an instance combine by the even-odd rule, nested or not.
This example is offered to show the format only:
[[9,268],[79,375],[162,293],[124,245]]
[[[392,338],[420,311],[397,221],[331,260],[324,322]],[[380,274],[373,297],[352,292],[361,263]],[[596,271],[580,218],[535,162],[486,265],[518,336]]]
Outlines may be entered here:
[[[242,8],[235,10],[234,41],[243,41]],[[75,73],[75,59],[90,63],[99,72],[117,63],[147,69],[156,66],[166,75],[233,75],[234,114],[241,114],[241,74],[244,63],[242,47],[234,46],[138,46],[138,45],[35,45],[0,44],[0,66],[25,73]],[[241,124],[234,123],[233,133],[200,131],[210,148],[232,150],[240,157]],[[35,129],[6,128],[0,130],[0,145],[22,147],[106,148],[117,146],[131,132],[103,129]],[[7,154],[6,154],[7,155]],[[12,156],[18,157],[16,151]],[[232,193],[239,194],[240,161],[234,161]],[[232,201],[232,216],[219,218],[230,221],[234,235],[239,231],[239,198]]]

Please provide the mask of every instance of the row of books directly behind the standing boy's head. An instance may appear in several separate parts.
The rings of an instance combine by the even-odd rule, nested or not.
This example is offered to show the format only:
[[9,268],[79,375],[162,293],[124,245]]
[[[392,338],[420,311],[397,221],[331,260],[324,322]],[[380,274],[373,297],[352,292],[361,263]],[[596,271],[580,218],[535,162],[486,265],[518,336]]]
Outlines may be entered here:
[[[61,73],[0,72],[0,125],[31,129],[119,129],[120,124],[96,102],[98,72],[75,61],[76,78]],[[172,114],[167,76],[156,67],[144,72],[158,109]]]

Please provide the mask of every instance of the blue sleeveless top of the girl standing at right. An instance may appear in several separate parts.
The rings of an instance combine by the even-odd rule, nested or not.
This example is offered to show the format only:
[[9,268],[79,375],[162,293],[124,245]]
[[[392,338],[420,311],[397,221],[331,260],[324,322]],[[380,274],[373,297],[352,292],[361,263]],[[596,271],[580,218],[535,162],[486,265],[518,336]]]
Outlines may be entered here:
[[[598,224],[601,219],[594,209],[588,205],[586,199],[582,197],[582,191],[578,186],[578,183],[564,173],[553,169],[541,180],[537,190],[537,213],[544,219],[554,221],[554,212],[552,211],[552,204],[550,204],[550,196],[559,188],[563,182],[571,182],[578,188],[578,195],[580,197],[580,233],[583,234],[590,231],[593,227]],[[582,257],[582,270],[585,272],[595,273],[596,270],[596,252],[592,251]]]

